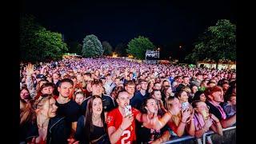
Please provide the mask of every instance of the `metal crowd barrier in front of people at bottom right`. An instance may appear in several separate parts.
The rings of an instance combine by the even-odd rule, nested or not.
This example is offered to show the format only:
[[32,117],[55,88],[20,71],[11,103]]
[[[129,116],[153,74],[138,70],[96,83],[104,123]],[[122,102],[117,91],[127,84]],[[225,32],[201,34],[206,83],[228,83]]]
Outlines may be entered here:
[[[228,127],[226,129],[223,129],[222,131],[225,132],[225,131],[234,130],[234,129],[236,129],[236,126]],[[187,136],[183,136],[180,138],[173,138],[170,141],[162,142],[162,143],[164,143],[164,144],[182,143],[182,142],[186,142],[186,141],[197,140],[198,144],[206,144],[206,139],[208,141],[211,141],[210,135],[212,135],[212,134],[215,134],[215,133],[214,133],[214,131],[210,130],[210,131],[206,132],[205,134],[203,134],[202,138],[195,138],[195,137],[187,135]],[[225,137],[224,133],[223,133],[223,137]]]

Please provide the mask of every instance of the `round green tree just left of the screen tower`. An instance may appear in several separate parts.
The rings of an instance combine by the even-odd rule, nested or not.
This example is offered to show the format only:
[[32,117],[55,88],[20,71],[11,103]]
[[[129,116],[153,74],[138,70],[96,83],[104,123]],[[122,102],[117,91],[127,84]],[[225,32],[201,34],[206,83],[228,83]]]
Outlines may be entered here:
[[126,51],[128,54],[133,55],[134,58],[144,59],[146,50],[153,50],[154,47],[149,38],[138,36],[138,38],[134,38],[128,43]]

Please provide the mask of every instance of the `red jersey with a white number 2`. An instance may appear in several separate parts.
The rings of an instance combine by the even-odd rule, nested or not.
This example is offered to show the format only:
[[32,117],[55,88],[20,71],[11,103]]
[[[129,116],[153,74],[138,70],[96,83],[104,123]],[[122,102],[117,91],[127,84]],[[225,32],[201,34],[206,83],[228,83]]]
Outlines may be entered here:
[[[122,131],[122,136],[118,139],[117,144],[124,144],[128,142],[133,143],[136,141],[135,119],[137,114],[139,114],[140,112],[133,107],[131,108],[131,110],[134,114],[134,121],[126,130]],[[110,113],[107,114],[106,124],[107,128],[109,128],[110,126],[114,126],[114,128],[118,130],[119,126],[122,124],[122,114],[120,113],[118,108],[111,110]]]

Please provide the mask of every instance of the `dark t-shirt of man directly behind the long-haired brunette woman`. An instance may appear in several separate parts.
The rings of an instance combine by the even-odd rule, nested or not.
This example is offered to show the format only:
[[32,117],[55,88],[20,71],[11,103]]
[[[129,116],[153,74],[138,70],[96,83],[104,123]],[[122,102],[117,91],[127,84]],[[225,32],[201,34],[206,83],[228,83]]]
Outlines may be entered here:
[[[82,102],[81,110],[82,110],[82,113],[84,114],[86,113],[87,102],[89,99],[90,97],[86,98],[86,100]],[[103,106],[103,109],[107,112],[109,112],[110,110],[113,110],[115,107],[113,99],[107,95],[102,95],[102,106]]]

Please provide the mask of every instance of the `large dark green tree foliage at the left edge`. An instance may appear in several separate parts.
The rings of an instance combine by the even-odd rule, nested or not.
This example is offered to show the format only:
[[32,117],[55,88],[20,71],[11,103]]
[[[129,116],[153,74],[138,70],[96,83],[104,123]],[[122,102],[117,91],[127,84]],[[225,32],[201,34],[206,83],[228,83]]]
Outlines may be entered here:
[[59,59],[68,49],[62,41],[62,35],[50,32],[35,22],[30,15],[20,18],[20,54],[21,60],[26,62]]

